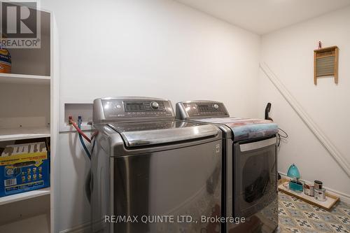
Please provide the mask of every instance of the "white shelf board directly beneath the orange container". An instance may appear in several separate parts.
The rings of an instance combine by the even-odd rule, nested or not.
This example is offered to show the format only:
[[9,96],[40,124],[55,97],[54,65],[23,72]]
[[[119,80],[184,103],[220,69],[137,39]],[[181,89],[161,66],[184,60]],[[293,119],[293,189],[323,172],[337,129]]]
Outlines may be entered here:
[[50,76],[31,76],[15,73],[0,73],[0,83],[49,85],[50,79]]

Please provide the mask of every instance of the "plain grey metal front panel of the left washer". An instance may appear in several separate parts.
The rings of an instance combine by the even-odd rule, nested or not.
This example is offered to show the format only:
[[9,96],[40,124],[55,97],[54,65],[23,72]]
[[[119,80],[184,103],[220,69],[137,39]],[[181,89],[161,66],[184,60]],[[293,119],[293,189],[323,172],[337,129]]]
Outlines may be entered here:
[[219,223],[201,218],[221,216],[221,140],[112,157],[111,164],[111,215],[136,217],[138,223],[111,223],[110,232],[220,230]]

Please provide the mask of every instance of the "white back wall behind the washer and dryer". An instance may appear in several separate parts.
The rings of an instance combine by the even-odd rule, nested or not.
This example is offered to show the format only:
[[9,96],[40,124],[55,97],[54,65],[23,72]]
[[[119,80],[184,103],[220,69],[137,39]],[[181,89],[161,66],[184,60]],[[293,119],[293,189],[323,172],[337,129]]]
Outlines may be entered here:
[[[232,115],[258,115],[259,36],[175,1],[45,0],[41,5],[57,20],[61,101],[216,99]],[[59,138],[59,230],[83,224],[90,215],[83,190],[89,164],[74,139],[76,134]]]

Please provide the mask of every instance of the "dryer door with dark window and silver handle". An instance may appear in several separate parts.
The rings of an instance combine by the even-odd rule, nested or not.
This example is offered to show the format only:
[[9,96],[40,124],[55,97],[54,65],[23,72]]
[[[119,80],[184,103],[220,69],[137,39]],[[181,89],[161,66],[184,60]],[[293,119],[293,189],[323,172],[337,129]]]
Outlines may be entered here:
[[276,202],[276,138],[234,147],[235,216],[247,218]]

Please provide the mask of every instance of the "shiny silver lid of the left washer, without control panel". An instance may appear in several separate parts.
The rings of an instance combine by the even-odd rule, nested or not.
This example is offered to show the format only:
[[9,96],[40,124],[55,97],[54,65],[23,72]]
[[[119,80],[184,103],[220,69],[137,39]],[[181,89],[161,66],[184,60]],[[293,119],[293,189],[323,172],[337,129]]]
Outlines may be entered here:
[[181,120],[114,122],[108,125],[123,137],[127,147],[202,139],[214,137],[219,133],[219,129],[214,125]]

